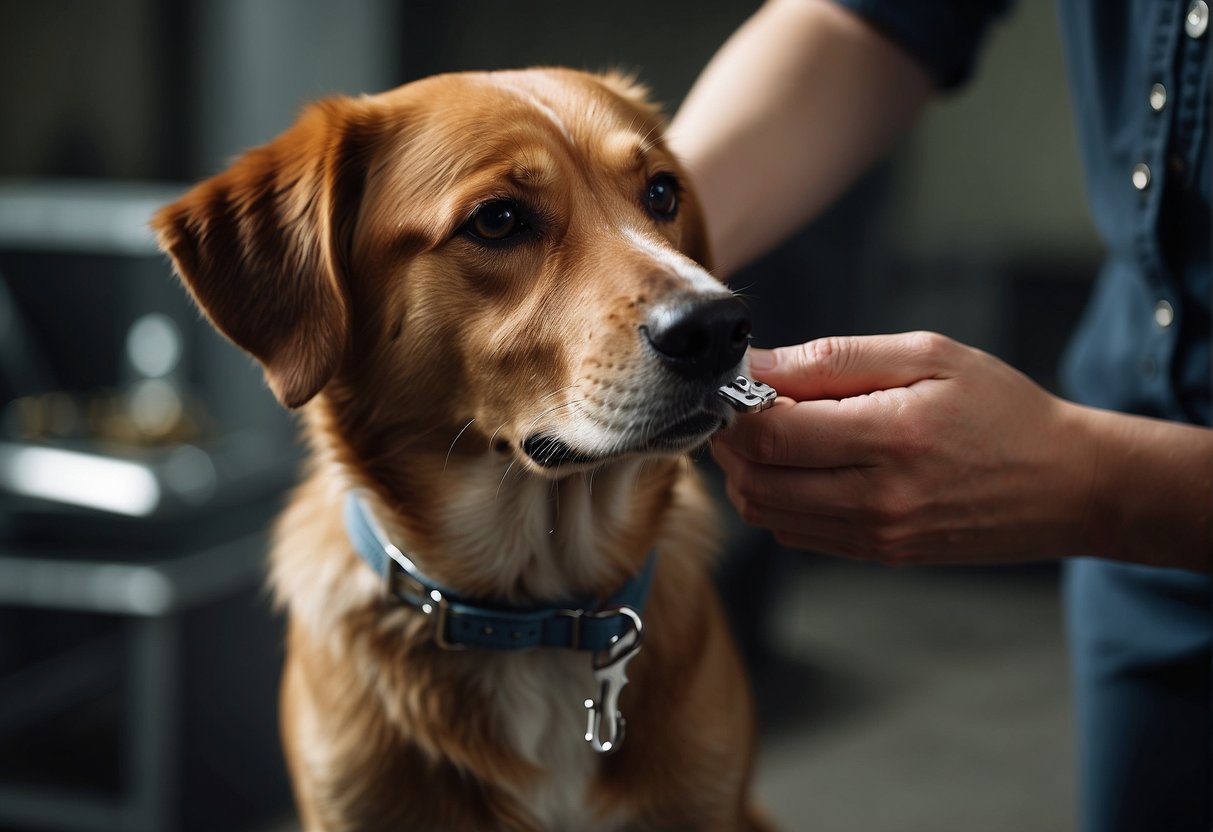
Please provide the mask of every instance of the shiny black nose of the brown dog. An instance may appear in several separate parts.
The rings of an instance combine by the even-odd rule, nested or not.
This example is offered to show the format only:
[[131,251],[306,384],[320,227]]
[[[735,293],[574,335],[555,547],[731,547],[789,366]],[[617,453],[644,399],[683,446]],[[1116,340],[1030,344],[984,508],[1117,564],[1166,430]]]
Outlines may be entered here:
[[746,354],[751,323],[741,301],[719,297],[657,307],[640,329],[671,370],[712,380]]

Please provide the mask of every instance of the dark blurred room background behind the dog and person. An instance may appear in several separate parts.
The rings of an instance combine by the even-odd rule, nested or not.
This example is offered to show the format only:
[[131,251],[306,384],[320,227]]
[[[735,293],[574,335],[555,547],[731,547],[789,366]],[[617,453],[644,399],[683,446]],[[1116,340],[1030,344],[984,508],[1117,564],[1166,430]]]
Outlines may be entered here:
[[[300,450],[150,211],[308,99],[437,72],[619,67],[673,112],[756,6],[0,1],[0,830],[294,828],[261,585]],[[1053,7],[1024,0],[734,285],[762,346],[929,327],[1053,387],[1097,260]],[[859,566],[731,520],[721,583],[785,828],[1074,826],[1053,568]]]

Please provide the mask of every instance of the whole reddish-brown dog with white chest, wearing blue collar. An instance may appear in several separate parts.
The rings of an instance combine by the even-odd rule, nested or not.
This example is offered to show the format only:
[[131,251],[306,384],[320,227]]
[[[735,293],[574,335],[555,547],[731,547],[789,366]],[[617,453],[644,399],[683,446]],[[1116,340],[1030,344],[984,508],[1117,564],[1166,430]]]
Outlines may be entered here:
[[687,454],[750,318],[619,74],[308,106],[153,220],[311,445],[279,519],[307,830],[750,830],[754,716]]

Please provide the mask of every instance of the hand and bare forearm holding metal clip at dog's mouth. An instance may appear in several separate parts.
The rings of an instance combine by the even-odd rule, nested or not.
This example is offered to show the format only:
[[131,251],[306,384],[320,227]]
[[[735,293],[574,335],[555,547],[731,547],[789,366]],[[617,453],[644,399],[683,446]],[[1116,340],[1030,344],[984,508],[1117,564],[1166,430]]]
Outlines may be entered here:
[[889,564],[1094,555],[1211,571],[1211,429],[1064,401],[933,334],[756,359],[791,398],[736,420],[713,451],[741,515],[787,545]]

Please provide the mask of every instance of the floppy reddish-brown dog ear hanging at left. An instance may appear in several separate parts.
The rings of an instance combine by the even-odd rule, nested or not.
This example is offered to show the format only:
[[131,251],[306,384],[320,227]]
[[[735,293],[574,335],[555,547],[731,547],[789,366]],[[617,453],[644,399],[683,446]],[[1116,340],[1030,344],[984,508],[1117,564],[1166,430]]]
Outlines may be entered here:
[[346,348],[347,252],[371,131],[361,102],[312,104],[152,221],[198,306],[261,361],[287,408],[328,383]]

